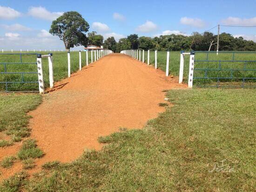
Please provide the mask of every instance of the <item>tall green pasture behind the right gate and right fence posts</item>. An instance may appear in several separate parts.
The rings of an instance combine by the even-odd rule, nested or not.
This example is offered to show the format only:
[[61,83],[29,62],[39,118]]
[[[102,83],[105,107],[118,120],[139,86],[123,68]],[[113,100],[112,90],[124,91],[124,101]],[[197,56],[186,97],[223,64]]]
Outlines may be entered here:
[[[148,63],[148,52],[145,52],[145,63]],[[166,59],[167,52],[160,51],[157,53],[157,67],[166,71]],[[142,52],[141,52],[141,60],[142,60]],[[197,70],[194,72],[194,77],[202,78],[205,77],[207,73],[207,77],[234,77],[234,78],[256,78],[256,53],[235,53],[234,60],[241,60],[241,62],[234,62],[233,53],[219,53],[217,56],[216,53],[195,53],[195,60],[216,60],[215,62],[206,62],[206,61],[195,61],[195,68],[203,68],[203,69],[211,69],[211,70]],[[229,62],[220,62],[219,60],[229,60]],[[254,60],[255,62],[243,62],[243,60]],[[170,52],[169,59],[169,74],[178,76],[180,71],[180,52]],[[155,66],[155,52],[150,51],[149,53],[149,63]],[[213,70],[213,69],[235,69],[232,72],[230,70]],[[242,70],[236,70],[242,69]],[[247,71],[243,71],[243,69],[247,69]],[[253,70],[248,70],[253,69]],[[183,79],[184,82],[187,83],[189,75],[189,55],[185,56],[184,60],[184,73]],[[216,85],[217,79],[195,79],[195,86],[202,85]],[[219,79],[220,82],[225,82],[225,85],[242,85],[243,79]],[[230,82],[230,84],[228,84]],[[235,83],[235,84],[234,84]],[[256,79],[245,79],[245,86],[256,86]]]

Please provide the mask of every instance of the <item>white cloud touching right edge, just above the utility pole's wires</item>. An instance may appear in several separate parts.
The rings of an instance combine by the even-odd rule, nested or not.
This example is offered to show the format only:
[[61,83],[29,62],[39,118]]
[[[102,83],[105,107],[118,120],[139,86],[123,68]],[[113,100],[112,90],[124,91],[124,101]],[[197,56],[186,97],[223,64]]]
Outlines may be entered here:
[[228,17],[222,20],[225,25],[238,25],[238,26],[256,26],[256,17],[249,19],[241,19],[239,17]]

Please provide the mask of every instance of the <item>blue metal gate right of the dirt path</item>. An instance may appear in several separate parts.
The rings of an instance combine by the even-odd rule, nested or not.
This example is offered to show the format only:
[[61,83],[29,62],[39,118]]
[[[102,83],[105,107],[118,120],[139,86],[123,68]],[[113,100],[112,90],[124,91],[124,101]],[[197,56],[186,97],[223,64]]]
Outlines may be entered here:
[[256,87],[256,52],[195,51],[194,86]]

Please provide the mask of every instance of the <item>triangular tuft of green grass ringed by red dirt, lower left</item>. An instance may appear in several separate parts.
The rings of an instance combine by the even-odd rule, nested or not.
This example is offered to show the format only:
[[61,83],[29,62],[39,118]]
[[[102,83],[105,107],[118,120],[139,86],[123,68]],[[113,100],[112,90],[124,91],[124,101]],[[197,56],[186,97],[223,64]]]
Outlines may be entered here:
[[24,141],[17,155],[20,160],[24,160],[28,158],[40,158],[44,155],[44,153],[37,147],[36,140],[27,139]]

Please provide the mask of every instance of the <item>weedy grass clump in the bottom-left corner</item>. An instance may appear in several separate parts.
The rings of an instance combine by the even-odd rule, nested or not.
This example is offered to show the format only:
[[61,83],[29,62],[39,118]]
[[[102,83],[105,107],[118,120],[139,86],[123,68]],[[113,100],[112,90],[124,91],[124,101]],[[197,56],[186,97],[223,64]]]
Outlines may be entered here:
[[27,172],[18,172],[12,177],[3,180],[0,186],[1,192],[19,192],[20,187],[25,184],[25,179],[28,177]]

